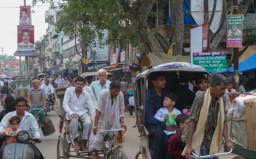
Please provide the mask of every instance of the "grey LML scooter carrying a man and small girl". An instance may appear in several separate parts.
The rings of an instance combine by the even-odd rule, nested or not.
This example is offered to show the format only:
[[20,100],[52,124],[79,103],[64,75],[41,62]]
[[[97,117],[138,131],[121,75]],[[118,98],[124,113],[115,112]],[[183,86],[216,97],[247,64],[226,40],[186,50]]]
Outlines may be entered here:
[[24,142],[28,140],[39,142],[39,140],[35,138],[29,138],[27,131],[22,130],[19,133],[15,133],[13,135],[5,134],[2,136],[17,139],[17,142],[11,142],[5,146],[3,151],[3,158],[34,159],[34,148],[30,144]]

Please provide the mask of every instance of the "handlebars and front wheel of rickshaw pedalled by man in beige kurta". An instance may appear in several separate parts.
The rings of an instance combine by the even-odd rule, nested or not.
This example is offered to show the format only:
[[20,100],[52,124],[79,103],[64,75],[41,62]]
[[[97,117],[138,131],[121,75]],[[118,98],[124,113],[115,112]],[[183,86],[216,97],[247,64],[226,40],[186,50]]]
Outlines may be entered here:
[[100,129],[97,129],[97,130],[98,130],[97,133],[111,132],[111,136],[106,135],[106,138],[108,140],[112,141],[112,146],[108,150],[108,154],[106,153],[106,147],[105,147],[105,144],[103,143],[104,159],[109,159],[109,158],[111,158],[111,159],[128,159],[123,148],[119,145],[118,146],[115,145],[116,136],[114,134],[114,131],[120,131],[120,130],[123,131],[123,130],[125,130],[124,128],[112,129],[112,130],[100,130]]

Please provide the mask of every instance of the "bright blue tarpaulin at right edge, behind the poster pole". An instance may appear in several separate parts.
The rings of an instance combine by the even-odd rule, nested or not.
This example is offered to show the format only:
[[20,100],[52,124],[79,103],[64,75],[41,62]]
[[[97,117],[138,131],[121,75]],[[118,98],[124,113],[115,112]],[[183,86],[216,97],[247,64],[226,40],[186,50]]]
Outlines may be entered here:
[[[256,70],[256,53],[239,63],[239,72],[249,72]],[[229,67],[228,71],[234,72],[234,66]]]

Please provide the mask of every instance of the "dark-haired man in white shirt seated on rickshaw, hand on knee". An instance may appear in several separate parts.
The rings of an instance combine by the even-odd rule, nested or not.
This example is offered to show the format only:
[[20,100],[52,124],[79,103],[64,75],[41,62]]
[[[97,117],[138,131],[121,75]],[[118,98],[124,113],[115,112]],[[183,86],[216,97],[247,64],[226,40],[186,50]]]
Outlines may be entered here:
[[92,98],[88,92],[86,92],[83,88],[85,85],[85,81],[83,77],[77,77],[75,87],[68,87],[66,89],[63,101],[63,108],[66,113],[70,116],[70,129],[72,132],[72,137],[75,141],[74,150],[80,150],[80,146],[77,140],[78,134],[78,120],[81,120],[83,123],[83,136],[81,142],[81,150],[86,151],[86,140],[89,139],[89,133],[92,130],[92,122],[91,118],[88,114],[88,110],[86,109],[86,105],[91,113],[94,115],[95,106],[92,103]]

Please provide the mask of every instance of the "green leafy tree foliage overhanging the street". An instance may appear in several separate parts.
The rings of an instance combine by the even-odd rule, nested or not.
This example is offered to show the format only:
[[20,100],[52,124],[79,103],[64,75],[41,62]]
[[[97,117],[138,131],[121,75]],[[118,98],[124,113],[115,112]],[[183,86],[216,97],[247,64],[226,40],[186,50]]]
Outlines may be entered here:
[[[143,30],[139,32],[138,21],[130,13],[121,11],[118,0],[33,0],[33,6],[39,1],[50,3],[51,8],[60,7],[57,12],[60,20],[54,23],[57,33],[63,31],[70,39],[76,36],[89,48],[96,47],[95,39],[101,47],[110,42],[121,48],[126,48],[126,42],[138,47],[141,45],[138,33],[146,34]],[[151,12],[151,15],[156,16],[156,13]],[[125,25],[132,25],[135,31],[128,32]],[[104,29],[109,31],[107,39],[102,33]]]

